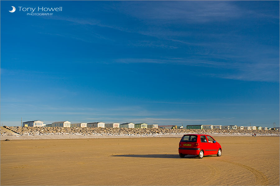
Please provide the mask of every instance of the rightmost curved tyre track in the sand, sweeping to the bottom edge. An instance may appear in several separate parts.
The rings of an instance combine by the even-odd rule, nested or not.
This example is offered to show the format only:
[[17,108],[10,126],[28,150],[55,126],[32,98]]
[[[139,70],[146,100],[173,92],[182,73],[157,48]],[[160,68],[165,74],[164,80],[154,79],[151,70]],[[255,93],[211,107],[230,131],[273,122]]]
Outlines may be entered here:
[[266,175],[264,175],[260,171],[254,169],[250,166],[246,166],[246,165],[236,163],[236,162],[229,162],[229,161],[226,161],[226,160],[219,160],[219,161],[231,163],[231,164],[234,164],[234,165],[237,165],[237,166],[240,166],[242,168],[245,168],[245,169],[249,170],[256,177],[255,185],[268,185],[268,179],[267,179]]

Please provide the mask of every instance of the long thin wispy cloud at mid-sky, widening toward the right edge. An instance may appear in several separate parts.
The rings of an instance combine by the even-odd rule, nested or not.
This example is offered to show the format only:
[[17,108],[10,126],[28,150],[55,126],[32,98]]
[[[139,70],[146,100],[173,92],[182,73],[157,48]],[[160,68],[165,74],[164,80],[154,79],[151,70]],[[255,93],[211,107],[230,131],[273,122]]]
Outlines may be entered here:
[[[243,81],[279,81],[279,63],[277,59],[265,62],[255,61],[248,62],[243,60],[208,60],[208,59],[184,59],[184,58],[169,58],[169,59],[117,59],[114,62],[118,63],[154,63],[154,64],[176,64],[188,65],[197,67],[208,67],[215,69],[228,69],[231,71],[222,71],[219,73],[196,72],[198,76],[210,76],[224,79],[235,79]],[[234,70],[234,71],[232,71]]]

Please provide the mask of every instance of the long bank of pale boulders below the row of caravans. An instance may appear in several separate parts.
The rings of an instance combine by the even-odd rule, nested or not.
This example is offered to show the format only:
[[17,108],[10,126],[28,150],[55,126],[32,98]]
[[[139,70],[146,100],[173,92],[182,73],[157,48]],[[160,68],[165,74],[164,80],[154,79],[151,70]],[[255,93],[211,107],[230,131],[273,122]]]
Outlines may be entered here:
[[[184,135],[191,133],[201,134],[228,134],[228,135],[252,135],[250,130],[226,130],[226,129],[162,129],[162,128],[91,128],[91,127],[21,127],[4,126],[8,130],[19,135],[137,135],[137,136],[157,136],[157,135]],[[254,131],[257,135],[279,135],[279,131],[259,130]],[[11,135],[1,129],[1,135]]]

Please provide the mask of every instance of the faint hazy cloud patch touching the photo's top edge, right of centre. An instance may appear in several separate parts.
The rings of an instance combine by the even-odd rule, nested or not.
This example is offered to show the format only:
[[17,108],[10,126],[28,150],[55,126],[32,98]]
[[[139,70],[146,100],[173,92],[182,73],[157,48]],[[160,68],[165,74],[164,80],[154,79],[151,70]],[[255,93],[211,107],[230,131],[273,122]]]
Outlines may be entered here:
[[205,23],[242,16],[236,5],[225,1],[124,2],[117,9],[127,15],[152,21],[155,24],[174,21]]

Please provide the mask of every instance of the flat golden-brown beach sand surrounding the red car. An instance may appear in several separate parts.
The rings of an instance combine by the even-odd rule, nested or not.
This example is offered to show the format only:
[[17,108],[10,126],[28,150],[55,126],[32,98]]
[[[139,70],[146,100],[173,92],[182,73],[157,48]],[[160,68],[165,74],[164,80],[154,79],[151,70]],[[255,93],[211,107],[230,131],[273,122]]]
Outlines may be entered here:
[[279,185],[279,137],[214,137],[222,156],[180,158],[180,138],[1,140],[1,185]]

